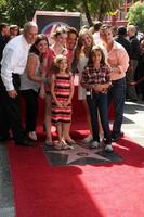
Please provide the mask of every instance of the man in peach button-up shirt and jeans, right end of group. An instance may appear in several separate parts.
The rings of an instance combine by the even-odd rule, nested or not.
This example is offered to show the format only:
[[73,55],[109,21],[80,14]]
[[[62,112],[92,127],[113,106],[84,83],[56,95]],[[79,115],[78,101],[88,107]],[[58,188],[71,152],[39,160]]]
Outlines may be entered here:
[[129,56],[125,48],[113,38],[112,27],[103,25],[100,30],[101,39],[107,50],[107,62],[112,67],[112,88],[108,91],[109,103],[114,101],[115,118],[112,130],[112,140],[117,141],[121,137],[121,124],[126,97],[126,72],[129,67]]

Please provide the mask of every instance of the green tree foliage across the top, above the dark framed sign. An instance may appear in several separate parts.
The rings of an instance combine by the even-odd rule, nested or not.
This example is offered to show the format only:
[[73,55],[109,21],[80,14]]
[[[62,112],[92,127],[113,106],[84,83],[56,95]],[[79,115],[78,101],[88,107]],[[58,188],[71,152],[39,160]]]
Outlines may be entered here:
[[121,0],[0,0],[0,20],[23,24],[34,17],[36,10],[79,11],[84,13],[90,25],[93,18],[103,20],[107,12],[119,8]]

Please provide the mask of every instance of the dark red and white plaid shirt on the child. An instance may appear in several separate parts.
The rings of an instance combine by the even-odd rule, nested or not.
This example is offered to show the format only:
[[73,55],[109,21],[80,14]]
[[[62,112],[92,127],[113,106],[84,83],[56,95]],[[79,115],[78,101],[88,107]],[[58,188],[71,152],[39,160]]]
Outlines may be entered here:
[[110,68],[107,65],[101,65],[99,69],[94,66],[86,66],[82,72],[81,82],[86,85],[106,84],[110,81]]

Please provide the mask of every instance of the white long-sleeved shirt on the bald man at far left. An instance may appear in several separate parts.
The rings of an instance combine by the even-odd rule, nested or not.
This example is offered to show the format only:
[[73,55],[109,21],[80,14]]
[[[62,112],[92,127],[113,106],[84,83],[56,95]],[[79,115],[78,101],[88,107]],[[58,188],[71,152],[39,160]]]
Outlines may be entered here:
[[14,90],[12,74],[22,75],[25,71],[30,44],[23,35],[14,37],[5,46],[1,61],[1,78],[6,91]]

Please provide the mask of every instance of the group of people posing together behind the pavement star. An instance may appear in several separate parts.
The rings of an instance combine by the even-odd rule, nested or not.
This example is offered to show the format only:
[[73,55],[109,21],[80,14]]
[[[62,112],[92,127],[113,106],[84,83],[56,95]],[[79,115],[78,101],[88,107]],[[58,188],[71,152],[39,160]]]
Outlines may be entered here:
[[[0,136],[18,145],[35,145],[37,138],[38,97],[45,101],[45,144],[56,150],[73,149],[70,137],[74,77],[79,77],[78,100],[83,102],[90,135],[90,149],[113,151],[113,141],[121,137],[126,99],[126,72],[130,58],[117,42],[113,28],[97,23],[95,33],[82,27],[57,27],[48,37],[38,35],[38,26],[28,22],[22,35],[11,39],[3,49],[0,78]],[[97,31],[97,33],[96,33]],[[21,97],[26,102],[25,129],[21,118]],[[109,129],[108,105],[114,103],[114,124]],[[52,142],[51,126],[56,126],[58,141]],[[102,126],[101,126],[102,125]],[[101,129],[102,128],[102,129]],[[102,136],[103,135],[103,136]]]

